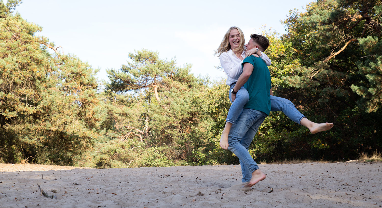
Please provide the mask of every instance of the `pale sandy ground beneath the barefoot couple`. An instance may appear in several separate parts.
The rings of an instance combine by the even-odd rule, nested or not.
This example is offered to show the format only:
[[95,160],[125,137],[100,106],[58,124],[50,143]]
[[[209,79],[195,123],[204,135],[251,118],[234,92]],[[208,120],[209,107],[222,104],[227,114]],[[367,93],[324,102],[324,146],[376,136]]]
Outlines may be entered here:
[[[237,189],[240,165],[90,169],[0,164],[0,207],[381,207],[382,163],[261,164]],[[37,184],[49,195],[40,195]],[[274,191],[270,191],[273,187]],[[57,193],[51,192],[54,189]]]

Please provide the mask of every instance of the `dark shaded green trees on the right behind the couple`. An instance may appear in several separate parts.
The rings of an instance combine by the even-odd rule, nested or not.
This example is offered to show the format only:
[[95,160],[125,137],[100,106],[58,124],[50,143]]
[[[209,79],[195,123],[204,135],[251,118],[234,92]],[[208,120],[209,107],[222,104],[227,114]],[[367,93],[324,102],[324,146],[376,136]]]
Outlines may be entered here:
[[[267,160],[354,159],[357,153],[381,147],[381,13],[376,5],[381,1],[319,0],[304,13],[291,11],[281,41],[291,44],[298,62],[288,61],[292,70],[282,74],[284,82],[276,94],[290,99],[311,121],[335,126],[311,135],[288,122],[272,121],[271,114],[272,128],[278,124],[288,131],[267,131],[256,155],[269,149],[271,155],[263,156]],[[282,132],[282,138],[276,132]]]

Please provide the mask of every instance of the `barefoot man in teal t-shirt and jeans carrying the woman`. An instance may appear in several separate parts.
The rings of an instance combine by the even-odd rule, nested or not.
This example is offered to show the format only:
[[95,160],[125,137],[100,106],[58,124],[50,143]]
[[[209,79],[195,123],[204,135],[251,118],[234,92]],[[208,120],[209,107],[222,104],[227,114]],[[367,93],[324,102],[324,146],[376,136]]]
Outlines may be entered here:
[[[258,48],[264,51],[269,45],[269,40],[257,34],[252,34],[246,47],[248,50]],[[249,56],[243,60],[243,73],[233,87],[232,102],[235,100],[235,92],[244,86],[249,94],[249,100],[244,105],[243,111],[237,121],[231,127],[228,135],[228,150],[235,153],[240,160],[243,182],[249,182],[251,187],[265,179],[257,163],[248,152],[257,129],[270,112],[270,95],[272,87],[270,73],[267,65],[261,58]]]

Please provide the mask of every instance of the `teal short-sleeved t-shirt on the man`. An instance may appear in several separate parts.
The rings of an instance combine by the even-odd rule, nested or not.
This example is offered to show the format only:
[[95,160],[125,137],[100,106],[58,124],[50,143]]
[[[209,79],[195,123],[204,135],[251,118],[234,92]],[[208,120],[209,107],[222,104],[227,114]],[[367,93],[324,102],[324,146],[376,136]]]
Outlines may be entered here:
[[248,56],[243,60],[242,67],[245,63],[253,65],[253,72],[248,81],[244,84],[249,94],[249,100],[244,108],[258,110],[269,115],[270,112],[270,92],[272,88],[270,84],[270,73],[267,65],[261,58]]

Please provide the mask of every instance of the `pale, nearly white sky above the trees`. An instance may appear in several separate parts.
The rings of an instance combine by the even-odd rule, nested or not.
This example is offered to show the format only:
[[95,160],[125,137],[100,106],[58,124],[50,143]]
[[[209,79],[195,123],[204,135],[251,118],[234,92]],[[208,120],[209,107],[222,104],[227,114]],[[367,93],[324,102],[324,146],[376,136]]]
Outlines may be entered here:
[[[24,0],[16,11],[42,27],[43,35],[64,53],[99,68],[99,80],[108,81],[106,69],[120,69],[128,54],[142,48],[192,64],[191,73],[226,78],[214,50],[231,26],[240,27],[246,42],[262,26],[285,33],[280,22],[289,10],[312,0]],[[241,3],[241,4],[240,4]],[[53,53],[53,51],[52,51]]]

